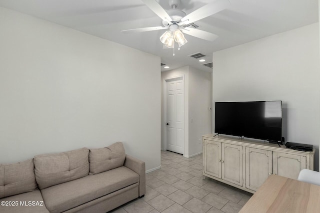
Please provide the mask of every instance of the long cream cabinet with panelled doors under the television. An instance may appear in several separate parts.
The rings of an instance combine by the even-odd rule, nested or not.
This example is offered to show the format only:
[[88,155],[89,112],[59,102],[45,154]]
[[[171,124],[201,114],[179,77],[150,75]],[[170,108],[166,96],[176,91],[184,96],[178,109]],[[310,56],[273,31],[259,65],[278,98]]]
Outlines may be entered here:
[[254,140],[203,136],[203,176],[254,193],[271,174],[297,179],[313,170],[312,152]]

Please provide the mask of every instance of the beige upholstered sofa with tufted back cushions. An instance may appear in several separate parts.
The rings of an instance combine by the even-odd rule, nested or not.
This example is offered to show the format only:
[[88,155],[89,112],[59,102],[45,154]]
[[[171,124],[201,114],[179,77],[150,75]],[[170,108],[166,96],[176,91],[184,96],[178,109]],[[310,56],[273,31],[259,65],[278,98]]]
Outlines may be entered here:
[[105,213],[145,194],[145,164],[121,142],[0,164],[0,213]]

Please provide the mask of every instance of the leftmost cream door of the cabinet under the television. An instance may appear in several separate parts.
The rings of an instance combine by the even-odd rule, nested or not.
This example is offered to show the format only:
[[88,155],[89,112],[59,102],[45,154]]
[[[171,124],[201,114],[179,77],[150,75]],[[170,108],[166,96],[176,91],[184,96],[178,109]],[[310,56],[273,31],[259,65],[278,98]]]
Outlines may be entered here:
[[221,178],[221,143],[203,140],[203,173]]

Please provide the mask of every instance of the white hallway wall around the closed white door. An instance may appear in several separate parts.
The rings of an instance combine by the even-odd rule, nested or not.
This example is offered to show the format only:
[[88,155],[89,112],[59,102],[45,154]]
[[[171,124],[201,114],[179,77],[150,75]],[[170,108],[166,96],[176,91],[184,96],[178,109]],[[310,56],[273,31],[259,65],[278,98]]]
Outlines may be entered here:
[[[210,133],[211,111],[211,73],[185,66],[161,72],[162,86],[165,79],[185,77],[185,157],[192,157],[202,152],[202,135]],[[163,91],[162,91],[163,92]],[[162,95],[161,148],[165,148],[164,111]],[[200,141],[199,141],[200,140]]]

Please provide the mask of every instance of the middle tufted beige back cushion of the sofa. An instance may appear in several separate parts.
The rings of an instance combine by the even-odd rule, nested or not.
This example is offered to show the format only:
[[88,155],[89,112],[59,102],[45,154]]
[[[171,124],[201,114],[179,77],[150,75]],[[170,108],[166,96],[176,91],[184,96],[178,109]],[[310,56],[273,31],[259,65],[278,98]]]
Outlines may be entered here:
[[39,189],[72,181],[89,173],[89,150],[77,149],[34,157],[34,174]]

